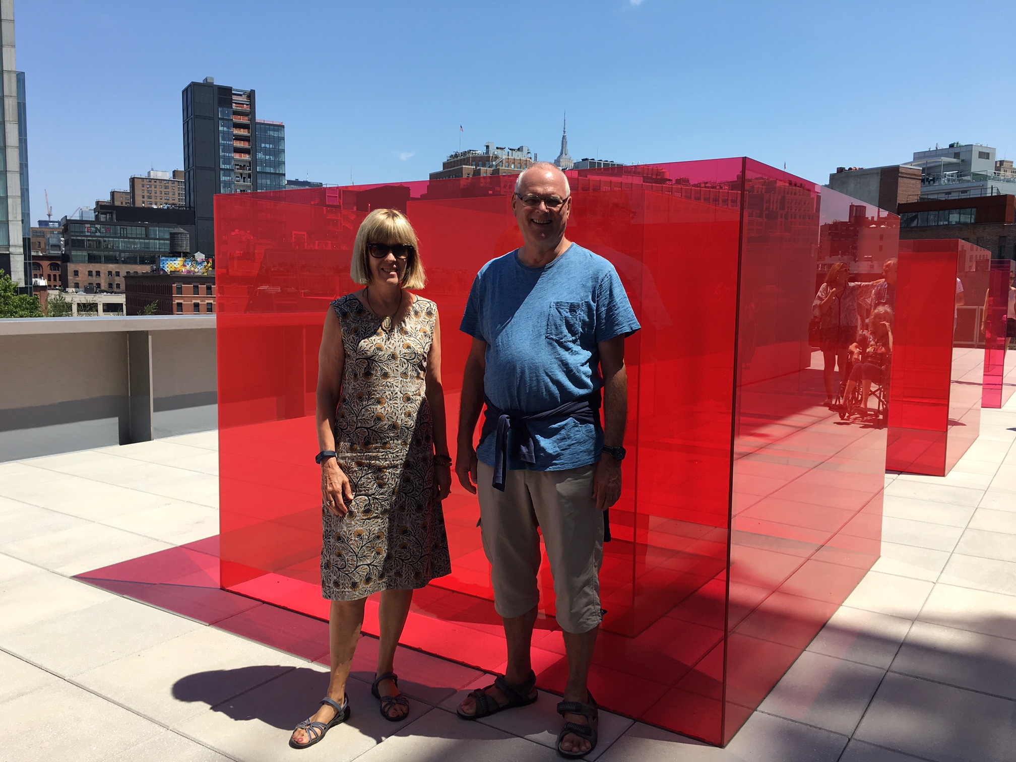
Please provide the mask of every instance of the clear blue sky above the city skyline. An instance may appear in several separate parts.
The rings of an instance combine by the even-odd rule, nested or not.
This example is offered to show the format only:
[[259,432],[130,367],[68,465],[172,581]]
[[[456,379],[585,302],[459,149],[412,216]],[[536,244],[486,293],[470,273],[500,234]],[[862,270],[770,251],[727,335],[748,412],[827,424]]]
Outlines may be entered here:
[[459,145],[748,154],[809,180],[953,140],[1016,157],[1006,2],[15,0],[33,219],[183,167],[180,91],[257,91],[291,178],[425,179]]

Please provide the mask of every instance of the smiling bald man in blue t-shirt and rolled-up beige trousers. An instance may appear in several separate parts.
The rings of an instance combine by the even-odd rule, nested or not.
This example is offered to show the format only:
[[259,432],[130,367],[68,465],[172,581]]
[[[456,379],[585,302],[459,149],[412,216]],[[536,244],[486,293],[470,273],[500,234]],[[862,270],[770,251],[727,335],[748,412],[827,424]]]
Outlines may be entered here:
[[568,655],[558,751],[579,757],[596,744],[596,704],[586,679],[602,619],[602,511],[621,495],[624,341],[639,324],[611,263],[565,238],[571,196],[564,173],[546,162],[532,165],[519,176],[511,203],[524,245],[484,265],[462,317],[472,346],[455,462],[462,487],[479,491],[508,666],[494,685],[470,693],[458,712],[475,719],[536,700],[529,644],[539,601],[538,525]]

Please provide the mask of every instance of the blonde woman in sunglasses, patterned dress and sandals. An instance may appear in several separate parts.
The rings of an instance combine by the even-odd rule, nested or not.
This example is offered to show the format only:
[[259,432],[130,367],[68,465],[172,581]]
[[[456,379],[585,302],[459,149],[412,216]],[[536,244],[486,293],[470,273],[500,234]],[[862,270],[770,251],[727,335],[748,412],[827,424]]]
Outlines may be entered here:
[[364,604],[375,592],[381,642],[372,692],[386,719],[406,716],[392,660],[412,590],[451,573],[440,503],[451,487],[451,458],[438,309],[406,291],[424,284],[424,267],[404,214],[367,215],[350,273],[365,288],[329,306],[318,361],[321,594],[331,599],[331,679],[321,708],[294,731],[295,749],[313,746],[350,716],[345,682]]

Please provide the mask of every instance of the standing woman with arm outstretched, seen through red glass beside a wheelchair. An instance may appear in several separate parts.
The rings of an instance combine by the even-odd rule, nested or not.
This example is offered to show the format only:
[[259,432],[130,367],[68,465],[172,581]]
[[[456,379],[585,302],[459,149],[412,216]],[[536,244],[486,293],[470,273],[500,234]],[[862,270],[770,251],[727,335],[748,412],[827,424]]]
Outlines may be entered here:
[[845,262],[834,262],[825,281],[819,287],[812,302],[812,315],[819,318],[819,348],[822,350],[826,399],[833,402],[833,372],[839,367],[840,376],[846,373],[846,347],[858,337],[858,300],[871,296],[882,279],[869,283],[851,283],[850,269]]

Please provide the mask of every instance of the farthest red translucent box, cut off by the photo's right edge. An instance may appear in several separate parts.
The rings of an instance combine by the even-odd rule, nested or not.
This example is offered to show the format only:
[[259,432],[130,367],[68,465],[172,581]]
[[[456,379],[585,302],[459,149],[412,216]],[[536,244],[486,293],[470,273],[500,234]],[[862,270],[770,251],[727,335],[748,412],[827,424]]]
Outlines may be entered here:
[[1009,304],[1016,279],[1016,261],[993,259],[985,299],[985,389],[981,407],[1001,407],[1016,390],[1016,354],[1009,351],[1006,335]]

